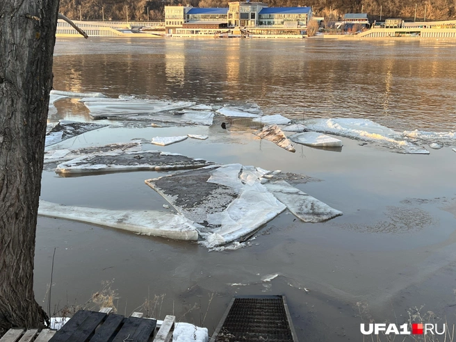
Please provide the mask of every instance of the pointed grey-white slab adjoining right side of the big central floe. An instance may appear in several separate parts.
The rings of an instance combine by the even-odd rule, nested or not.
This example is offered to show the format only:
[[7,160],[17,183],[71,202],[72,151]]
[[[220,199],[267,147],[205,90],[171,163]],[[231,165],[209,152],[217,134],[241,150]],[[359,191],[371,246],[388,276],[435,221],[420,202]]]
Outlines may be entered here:
[[322,222],[342,215],[341,211],[303,193],[286,181],[270,181],[265,186],[289,211],[304,222]]

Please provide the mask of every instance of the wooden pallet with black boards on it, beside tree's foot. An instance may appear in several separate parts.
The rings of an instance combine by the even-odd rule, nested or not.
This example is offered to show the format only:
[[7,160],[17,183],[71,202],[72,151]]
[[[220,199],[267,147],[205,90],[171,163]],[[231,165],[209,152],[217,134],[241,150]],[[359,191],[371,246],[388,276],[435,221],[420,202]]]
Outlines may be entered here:
[[174,316],[166,316],[156,332],[157,321],[142,318],[135,312],[129,318],[110,314],[111,308],[99,312],[79,310],[58,330],[10,329],[0,342],[170,342],[174,331]]

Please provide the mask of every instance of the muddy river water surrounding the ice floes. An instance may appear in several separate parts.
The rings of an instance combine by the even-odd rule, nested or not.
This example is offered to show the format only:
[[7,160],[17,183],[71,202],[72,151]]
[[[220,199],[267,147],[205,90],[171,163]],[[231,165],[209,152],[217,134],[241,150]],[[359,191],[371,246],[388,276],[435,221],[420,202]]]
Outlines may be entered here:
[[[58,40],[54,88],[258,104],[293,120],[366,118],[396,131],[456,129],[456,44],[326,40]],[[49,122],[90,121],[77,99],[56,102]],[[138,236],[80,222],[38,219],[35,295],[53,310],[83,304],[112,281],[114,304],[131,314],[161,296],[154,315],[218,324],[237,294],[284,294],[301,341],[362,341],[359,323],[403,323],[414,307],[456,323],[456,154],[397,154],[340,138],[341,151],[296,146],[287,152],[252,134],[250,120],[211,127],[108,127],[57,147],[134,138],[209,135],[151,149],[216,163],[306,174],[298,184],[343,215],[304,223],[285,211],[247,247],[209,252],[196,243]],[[426,146],[425,146],[426,147]],[[166,172],[42,176],[41,198],[102,209],[164,209],[145,179]],[[277,275],[277,277],[274,277]],[[272,278],[272,279],[270,279]],[[265,281],[269,280],[270,281]],[[213,298],[210,300],[210,298]],[[138,311],[138,310],[137,310]],[[145,311],[144,308],[139,311]]]

